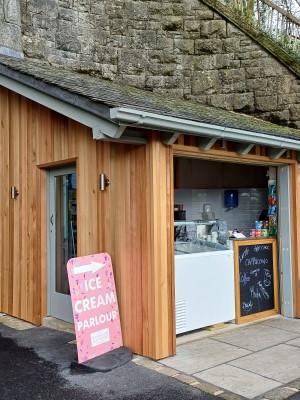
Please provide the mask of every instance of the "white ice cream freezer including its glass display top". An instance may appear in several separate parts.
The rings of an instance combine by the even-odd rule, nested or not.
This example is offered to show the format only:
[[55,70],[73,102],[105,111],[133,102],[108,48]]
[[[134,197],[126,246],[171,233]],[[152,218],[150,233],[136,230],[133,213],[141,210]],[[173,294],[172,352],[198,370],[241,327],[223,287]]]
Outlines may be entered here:
[[235,317],[233,250],[207,241],[215,224],[175,222],[176,334]]

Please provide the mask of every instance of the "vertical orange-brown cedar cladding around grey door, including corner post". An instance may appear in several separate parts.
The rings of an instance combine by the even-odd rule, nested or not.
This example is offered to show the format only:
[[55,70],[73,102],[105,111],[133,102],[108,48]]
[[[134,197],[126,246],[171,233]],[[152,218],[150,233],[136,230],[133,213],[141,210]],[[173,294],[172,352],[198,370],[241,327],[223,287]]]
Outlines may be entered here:
[[0,120],[1,312],[34,324],[46,316],[45,171],[76,162],[78,255],[112,255],[124,343],[153,358],[173,354],[172,148],[155,133],[145,146],[95,141],[89,128],[5,88]]

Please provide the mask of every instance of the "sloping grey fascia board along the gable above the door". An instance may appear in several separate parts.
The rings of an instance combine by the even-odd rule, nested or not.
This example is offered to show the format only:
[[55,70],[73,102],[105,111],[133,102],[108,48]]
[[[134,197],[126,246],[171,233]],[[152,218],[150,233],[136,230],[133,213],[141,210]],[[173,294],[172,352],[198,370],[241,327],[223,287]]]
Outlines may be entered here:
[[75,105],[66,103],[63,100],[57,99],[47,93],[41,92],[9,77],[0,75],[0,85],[56,111],[59,114],[92,128],[93,136],[95,136],[97,132],[102,132],[109,137],[115,137],[115,135],[121,135],[125,129],[124,127],[120,129],[120,124],[116,124],[95,114],[89,113]]

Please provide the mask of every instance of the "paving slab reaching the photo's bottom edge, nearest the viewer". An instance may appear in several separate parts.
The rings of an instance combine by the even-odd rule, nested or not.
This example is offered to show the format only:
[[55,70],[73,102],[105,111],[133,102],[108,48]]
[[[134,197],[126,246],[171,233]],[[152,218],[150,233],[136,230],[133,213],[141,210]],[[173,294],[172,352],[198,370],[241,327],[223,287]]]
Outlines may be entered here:
[[247,399],[252,399],[281,386],[280,382],[276,382],[273,379],[264,378],[255,373],[226,364],[199,372],[194,376]]

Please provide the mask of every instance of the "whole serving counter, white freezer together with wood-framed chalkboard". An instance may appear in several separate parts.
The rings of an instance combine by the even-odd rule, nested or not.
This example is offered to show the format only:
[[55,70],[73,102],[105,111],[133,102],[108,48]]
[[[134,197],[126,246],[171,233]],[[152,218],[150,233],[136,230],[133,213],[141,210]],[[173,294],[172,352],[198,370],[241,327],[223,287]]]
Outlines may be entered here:
[[198,239],[186,224],[180,238],[188,240],[174,242],[176,334],[278,313],[276,239],[222,244]]

